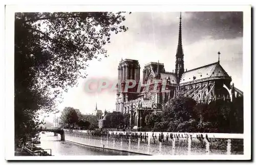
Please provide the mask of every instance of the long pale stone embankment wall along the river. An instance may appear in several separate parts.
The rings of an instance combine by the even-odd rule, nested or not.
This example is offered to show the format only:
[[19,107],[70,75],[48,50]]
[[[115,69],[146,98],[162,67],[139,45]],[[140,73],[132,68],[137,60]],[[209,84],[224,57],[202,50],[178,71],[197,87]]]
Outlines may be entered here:
[[[155,140],[152,136],[153,132],[146,132],[148,135],[146,139],[121,137],[118,134],[125,134],[122,131],[109,133],[111,135],[95,136],[87,130],[65,130],[65,140],[93,147],[148,155],[243,154],[243,134],[163,132],[164,140],[159,142],[158,137],[161,132],[154,132],[154,136],[157,136]],[[137,133],[140,134],[140,132]],[[171,133],[173,138],[170,138]]]

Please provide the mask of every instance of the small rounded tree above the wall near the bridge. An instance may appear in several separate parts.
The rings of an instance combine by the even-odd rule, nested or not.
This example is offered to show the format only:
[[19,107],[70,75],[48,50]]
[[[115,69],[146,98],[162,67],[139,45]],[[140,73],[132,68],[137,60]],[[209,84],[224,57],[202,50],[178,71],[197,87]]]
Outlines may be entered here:
[[60,115],[60,124],[68,127],[74,126],[78,123],[78,116],[73,107],[65,107]]

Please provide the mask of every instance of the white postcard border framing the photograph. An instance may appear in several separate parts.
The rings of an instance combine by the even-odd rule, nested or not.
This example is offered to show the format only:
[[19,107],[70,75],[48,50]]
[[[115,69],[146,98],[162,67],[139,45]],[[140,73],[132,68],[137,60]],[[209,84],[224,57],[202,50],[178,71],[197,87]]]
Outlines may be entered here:
[[[52,12],[52,11],[243,11],[243,86],[244,86],[244,155],[154,155],[154,156],[14,156],[14,12]],[[186,160],[186,159],[250,159],[251,158],[251,7],[250,6],[51,6],[21,5],[6,6],[5,18],[5,156],[7,160]]]

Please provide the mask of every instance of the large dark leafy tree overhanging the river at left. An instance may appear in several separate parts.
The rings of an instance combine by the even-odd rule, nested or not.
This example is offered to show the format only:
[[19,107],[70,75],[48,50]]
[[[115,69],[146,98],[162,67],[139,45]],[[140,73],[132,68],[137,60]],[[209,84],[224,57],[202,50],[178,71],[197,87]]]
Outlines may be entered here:
[[62,90],[87,76],[88,61],[108,56],[103,46],[127,30],[124,20],[123,12],[15,13],[16,137],[36,132],[38,115],[56,111]]

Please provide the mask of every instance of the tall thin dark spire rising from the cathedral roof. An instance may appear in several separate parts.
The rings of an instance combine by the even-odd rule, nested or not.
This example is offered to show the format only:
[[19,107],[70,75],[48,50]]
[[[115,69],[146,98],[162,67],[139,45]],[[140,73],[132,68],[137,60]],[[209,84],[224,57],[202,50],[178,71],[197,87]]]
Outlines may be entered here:
[[175,73],[178,77],[178,83],[179,83],[181,76],[184,73],[184,54],[183,54],[182,40],[181,40],[181,13],[180,13],[179,41],[178,41],[178,47],[176,52]]

